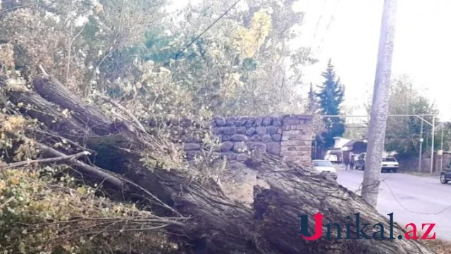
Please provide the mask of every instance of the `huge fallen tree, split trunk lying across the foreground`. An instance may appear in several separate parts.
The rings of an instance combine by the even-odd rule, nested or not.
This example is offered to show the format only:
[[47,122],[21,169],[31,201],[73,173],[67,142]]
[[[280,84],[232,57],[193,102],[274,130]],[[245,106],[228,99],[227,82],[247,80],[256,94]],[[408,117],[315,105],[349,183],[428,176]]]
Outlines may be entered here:
[[[147,202],[159,216],[190,218],[183,225],[167,228],[176,241],[186,243],[183,248],[188,253],[433,253],[421,243],[405,239],[306,241],[299,236],[299,215],[321,212],[325,223],[340,224],[342,229],[345,224],[355,225],[353,215],[357,212],[362,224],[388,225],[389,220],[357,194],[310,169],[259,153],[235,167],[254,170],[269,187],[254,186],[252,207],[238,203],[224,196],[213,180],[197,184],[190,174],[195,168],[166,170],[158,163],[147,163],[158,162],[162,153],[171,156],[172,151],[169,146],[161,147],[165,144],[144,132],[134,120],[111,120],[53,77],[39,75],[32,84],[34,91],[4,88],[12,103],[30,105],[21,110],[23,115],[44,124],[45,131],[27,129],[25,135],[37,136],[37,143],[49,146],[59,136],[77,144],[78,153],[83,148],[94,151],[91,175],[108,173],[126,186],[116,193],[114,184],[109,187],[115,198]],[[63,114],[65,109],[71,115]],[[79,162],[87,165],[86,160]],[[309,223],[309,231],[314,230],[314,223]],[[379,230],[369,228],[366,234],[371,236]],[[385,228],[385,236],[388,230]],[[356,234],[352,226],[350,236]],[[404,229],[394,224],[393,236],[398,235],[404,236]]]

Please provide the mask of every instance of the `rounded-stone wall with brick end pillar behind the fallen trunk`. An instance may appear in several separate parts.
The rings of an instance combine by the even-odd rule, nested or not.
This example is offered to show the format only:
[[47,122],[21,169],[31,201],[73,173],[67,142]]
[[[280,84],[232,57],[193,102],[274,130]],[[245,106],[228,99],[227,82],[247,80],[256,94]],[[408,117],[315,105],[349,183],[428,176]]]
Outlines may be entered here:
[[[309,166],[313,137],[311,115],[266,117],[215,117],[211,131],[218,136],[220,146],[215,152],[228,160],[244,161],[258,149],[282,160]],[[187,158],[202,155],[202,137],[183,138]]]

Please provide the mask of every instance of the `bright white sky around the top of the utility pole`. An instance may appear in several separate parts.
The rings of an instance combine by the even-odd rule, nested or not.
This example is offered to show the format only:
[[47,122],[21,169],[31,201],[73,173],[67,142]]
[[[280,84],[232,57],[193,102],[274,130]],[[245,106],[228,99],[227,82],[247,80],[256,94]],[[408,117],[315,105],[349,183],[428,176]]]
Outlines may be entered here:
[[[175,1],[178,8],[188,2]],[[304,82],[320,84],[321,72],[332,58],[353,114],[366,115],[362,105],[373,90],[382,7],[383,0],[298,0],[296,5],[305,18],[294,43],[311,46],[320,61],[304,69]],[[450,0],[398,0],[393,55],[393,77],[412,77],[414,85],[435,101],[443,120],[451,120],[451,79],[446,75],[451,70],[450,11]]]

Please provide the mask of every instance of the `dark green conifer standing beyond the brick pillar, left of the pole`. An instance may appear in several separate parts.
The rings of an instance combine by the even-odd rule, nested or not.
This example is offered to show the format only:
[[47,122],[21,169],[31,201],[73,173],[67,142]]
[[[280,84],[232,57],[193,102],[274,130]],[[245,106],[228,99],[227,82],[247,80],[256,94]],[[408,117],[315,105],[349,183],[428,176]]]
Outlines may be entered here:
[[[340,83],[340,78],[335,74],[332,61],[329,60],[326,71],[322,76],[326,79],[316,94],[319,100],[322,115],[340,115],[341,104],[345,95],[345,87]],[[339,117],[323,118],[325,131],[321,134],[323,146],[333,146],[333,138],[342,136],[345,132],[345,121]]]

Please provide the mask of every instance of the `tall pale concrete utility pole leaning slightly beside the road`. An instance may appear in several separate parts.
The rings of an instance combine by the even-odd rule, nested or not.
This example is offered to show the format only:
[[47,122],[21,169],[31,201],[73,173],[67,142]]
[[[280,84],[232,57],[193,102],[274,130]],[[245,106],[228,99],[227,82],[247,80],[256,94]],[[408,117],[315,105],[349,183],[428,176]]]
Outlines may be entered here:
[[374,208],[378,202],[379,185],[381,184],[381,163],[387,127],[388,96],[395,42],[396,4],[397,0],[385,0],[383,4],[378,63],[368,130],[368,150],[362,183],[362,196]]

